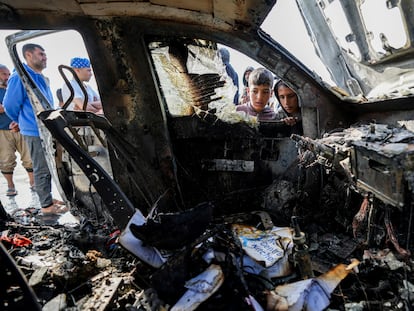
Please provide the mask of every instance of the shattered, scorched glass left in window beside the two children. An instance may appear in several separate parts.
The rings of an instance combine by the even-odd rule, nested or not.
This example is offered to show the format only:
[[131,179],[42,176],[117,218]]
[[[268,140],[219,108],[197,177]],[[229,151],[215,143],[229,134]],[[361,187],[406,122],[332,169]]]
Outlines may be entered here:
[[151,42],[152,60],[170,116],[206,113],[229,123],[253,118],[235,111],[236,92],[218,54],[218,46],[199,39]]

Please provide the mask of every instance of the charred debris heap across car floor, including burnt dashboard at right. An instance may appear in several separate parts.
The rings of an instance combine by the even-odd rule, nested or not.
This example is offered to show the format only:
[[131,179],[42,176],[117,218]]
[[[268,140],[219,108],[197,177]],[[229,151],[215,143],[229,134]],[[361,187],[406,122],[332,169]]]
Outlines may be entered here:
[[[279,179],[259,211],[156,204],[121,232],[1,207],[2,309],[412,310],[412,138],[379,126],[292,136],[318,200],[309,178]],[[401,182],[390,190],[381,174]]]

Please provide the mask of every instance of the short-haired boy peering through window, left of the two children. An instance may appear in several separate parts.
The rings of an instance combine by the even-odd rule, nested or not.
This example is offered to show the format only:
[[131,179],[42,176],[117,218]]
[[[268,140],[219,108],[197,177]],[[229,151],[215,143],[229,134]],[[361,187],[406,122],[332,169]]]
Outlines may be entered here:
[[269,108],[269,100],[273,94],[273,74],[266,68],[257,68],[249,75],[247,92],[249,101],[238,105],[236,111],[243,111],[256,116],[258,121],[273,120],[275,112]]

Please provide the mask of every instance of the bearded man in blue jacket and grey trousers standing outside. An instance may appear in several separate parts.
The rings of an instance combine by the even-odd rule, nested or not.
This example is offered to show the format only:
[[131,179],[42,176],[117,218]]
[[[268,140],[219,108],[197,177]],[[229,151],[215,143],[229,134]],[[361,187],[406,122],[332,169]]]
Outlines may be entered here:
[[[25,70],[47,100],[53,103],[49,81],[42,74],[47,62],[45,50],[38,44],[29,43],[23,46],[22,54],[26,60],[26,64],[23,64]],[[33,164],[35,190],[39,196],[42,214],[65,213],[67,207],[59,204],[52,197],[52,178],[42,148],[36,116],[17,71],[10,76],[3,105],[7,115],[18,123],[28,145]]]

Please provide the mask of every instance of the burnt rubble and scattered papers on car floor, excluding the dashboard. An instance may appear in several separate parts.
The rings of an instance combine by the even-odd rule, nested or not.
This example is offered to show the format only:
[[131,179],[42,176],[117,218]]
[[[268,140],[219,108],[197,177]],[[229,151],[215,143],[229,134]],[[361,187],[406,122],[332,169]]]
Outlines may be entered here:
[[215,220],[188,245],[160,250],[159,268],[121,248],[119,231],[110,228],[9,221],[2,231],[4,310],[413,306],[411,260],[391,249],[364,249],[344,234],[313,232],[306,239],[298,227],[274,226],[265,212]]

